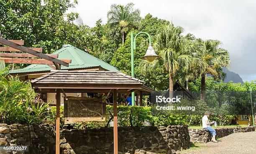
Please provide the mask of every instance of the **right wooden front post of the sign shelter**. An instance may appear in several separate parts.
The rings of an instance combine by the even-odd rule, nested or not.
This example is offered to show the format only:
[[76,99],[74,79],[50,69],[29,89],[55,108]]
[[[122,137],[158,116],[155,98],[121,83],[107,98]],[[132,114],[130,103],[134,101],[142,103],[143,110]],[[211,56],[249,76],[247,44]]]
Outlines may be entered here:
[[113,104],[114,104],[114,154],[118,154],[118,120],[117,120],[117,98],[116,89],[113,89]]

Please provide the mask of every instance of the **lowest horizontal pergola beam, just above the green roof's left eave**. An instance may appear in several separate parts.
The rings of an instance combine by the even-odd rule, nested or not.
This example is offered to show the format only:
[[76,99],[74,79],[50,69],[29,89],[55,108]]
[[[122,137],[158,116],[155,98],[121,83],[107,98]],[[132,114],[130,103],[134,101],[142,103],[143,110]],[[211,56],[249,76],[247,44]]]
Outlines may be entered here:
[[[44,59],[32,59],[32,58],[6,58],[0,57],[0,60],[5,60],[5,63],[15,63],[15,64],[49,64],[53,65],[53,63],[49,60]],[[65,63],[71,63],[71,60],[61,60]]]

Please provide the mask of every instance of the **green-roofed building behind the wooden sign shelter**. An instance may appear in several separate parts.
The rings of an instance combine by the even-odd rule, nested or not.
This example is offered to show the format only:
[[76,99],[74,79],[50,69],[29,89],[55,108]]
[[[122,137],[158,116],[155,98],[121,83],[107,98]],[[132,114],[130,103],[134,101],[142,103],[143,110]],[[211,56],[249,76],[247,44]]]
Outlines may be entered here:
[[[96,57],[90,55],[83,50],[78,49],[72,45],[63,45],[62,48],[53,52],[51,55],[58,55],[58,59],[69,59],[71,63],[69,66],[61,66],[61,70],[86,70],[86,71],[115,71],[120,72],[116,67],[97,59]],[[11,70],[10,75],[18,76],[22,80],[29,80],[29,79],[36,79],[37,77],[41,77],[42,75],[46,75],[51,71],[56,70],[54,65],[43,65],[43,64],[31,64],[28,67],[18,69],[18,70]],[[141,105],[142,95],[149,95],[152,89],[143,86],[144,90],[137,90],[136,93],[136,105]],[[56,95],[55,93],[46,92],[46,91],[37,91],[41,94],[41,99],[44,102],[50,100],[51,105],[56,105]],[[130,91],[128,91],[130,92]],[[123,92],[123,95],[126,92]],[[74,97],[83,97],[87,96],[87,94],[93,94],[93,92],[83,92],[82,90],[77,93],[72,93],[69,90],[65,91],[67,96],[74,96]],[[122,92],[119,93],[122,95]],[[61,94],[63,96],[63,94]],[[64,102],[64,97],[61,97],[61,104]]]

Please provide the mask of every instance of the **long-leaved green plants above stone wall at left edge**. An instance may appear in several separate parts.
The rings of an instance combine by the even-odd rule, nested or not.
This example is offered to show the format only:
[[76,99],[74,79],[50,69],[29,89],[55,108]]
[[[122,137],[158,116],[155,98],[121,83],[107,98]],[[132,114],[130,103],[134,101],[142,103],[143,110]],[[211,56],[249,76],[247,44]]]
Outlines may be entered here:
[[8,67],[0,72],[0,123],[41,123],[46,119],[47,107],[29,82],[18,77],[5,78]]

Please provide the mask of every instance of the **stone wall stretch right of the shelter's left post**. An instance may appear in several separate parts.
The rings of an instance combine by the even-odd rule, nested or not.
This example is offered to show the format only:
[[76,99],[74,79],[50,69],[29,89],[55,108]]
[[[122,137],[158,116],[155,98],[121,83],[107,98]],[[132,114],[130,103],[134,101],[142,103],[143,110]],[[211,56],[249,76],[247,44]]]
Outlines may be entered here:
[[[61,150],[72,153],[113,153],[113,128],[63,130]],[[189,148],[187,126],[118,128],[120,153],[172,153]]]

